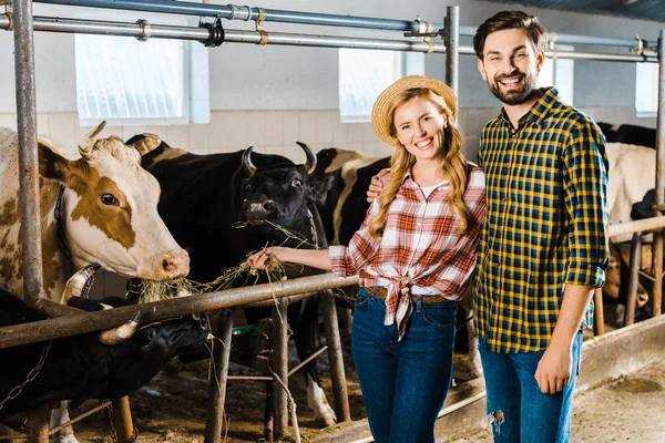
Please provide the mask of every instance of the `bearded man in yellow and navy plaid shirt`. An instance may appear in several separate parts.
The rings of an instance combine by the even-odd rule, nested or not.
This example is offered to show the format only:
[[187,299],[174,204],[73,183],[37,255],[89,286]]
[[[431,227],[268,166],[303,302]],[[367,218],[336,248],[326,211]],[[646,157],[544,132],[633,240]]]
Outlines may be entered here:
[[494,442],[567,442],[594,288],[608,264],[607,159],[587,115],[538,89],[546,32],[503,11],[473,38],[501,101],[481,134],[488,213],[474,303]]

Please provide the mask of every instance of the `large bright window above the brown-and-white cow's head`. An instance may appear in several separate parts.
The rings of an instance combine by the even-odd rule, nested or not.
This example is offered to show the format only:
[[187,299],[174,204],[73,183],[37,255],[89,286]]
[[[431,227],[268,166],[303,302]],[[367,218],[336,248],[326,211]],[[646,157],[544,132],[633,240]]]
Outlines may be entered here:
[[208,123],[207,56],[198,42],[76,34],[81,124]]

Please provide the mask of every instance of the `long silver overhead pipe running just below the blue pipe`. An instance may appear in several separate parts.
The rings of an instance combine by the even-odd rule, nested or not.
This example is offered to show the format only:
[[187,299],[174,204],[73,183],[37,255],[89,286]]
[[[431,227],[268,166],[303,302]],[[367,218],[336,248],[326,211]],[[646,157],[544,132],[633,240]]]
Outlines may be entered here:
[[[7,16],[0,16],[0,29],[9,29],[10,19]],[[136,23],[108,22],[99,20],[82,19],[61,19],[50,17],[37,17],[34,19],[34,29],[45,32],[65,32],[65,33],[85,33],[101,35],[119,35],[140,38],[142,35],[141,25]],[[174,27],[160,25],[151,23],[151,38],[155,39],[180,39],[205,41],[209,38],[207,29],[194,27]],[[258,44],[262,34],[256,31],[225,30],[224,41],[227,43],[253,43]],[[354,49],[377,49],[386,51],[402,52],[429,52],[430,45],[423,41],[409,40],[386,40],[386,39],[364,39],[356,37],[338,35],[311,35],[295,34],[284,32],[269,32],[267,44],[278,44],[287,47],[313,47],[313,48],[354,48]],[[434,53],[446,53],[446,45],[434,43],[432,51]],[[463,55],[475,55],[473,48],[459,47],[459,53]],[[572,60],[593,60],[612,62],[656,62],[656,56],[632,55],[632,54],[607,54],[594,52],[575,51],[548,51],[546,56]]]

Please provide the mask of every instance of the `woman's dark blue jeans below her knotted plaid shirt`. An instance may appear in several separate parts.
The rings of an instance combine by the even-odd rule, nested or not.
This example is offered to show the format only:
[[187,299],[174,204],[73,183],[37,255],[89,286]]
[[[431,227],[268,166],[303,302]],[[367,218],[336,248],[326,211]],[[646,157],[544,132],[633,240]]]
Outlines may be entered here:
[[430,443],[452,375],[456,301],[415,301],[407,333],[385,326],[386,300],[360,289],[351,351],[377,443]]

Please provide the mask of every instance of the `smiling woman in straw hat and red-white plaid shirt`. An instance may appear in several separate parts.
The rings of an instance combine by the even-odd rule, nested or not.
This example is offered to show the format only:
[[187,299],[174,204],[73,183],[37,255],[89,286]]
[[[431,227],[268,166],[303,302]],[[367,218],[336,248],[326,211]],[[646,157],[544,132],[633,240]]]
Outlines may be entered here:
[[395,147],[385,190],[349,246],[272,247],[249,257],[359,274],[352,357],[374,439],[433,442],[452,374],[457,300],[475,267],[485,212],[481,169],[467,163],[457,97],[421,75],[390,85],[371,122]]

